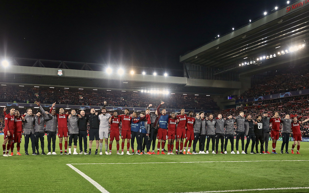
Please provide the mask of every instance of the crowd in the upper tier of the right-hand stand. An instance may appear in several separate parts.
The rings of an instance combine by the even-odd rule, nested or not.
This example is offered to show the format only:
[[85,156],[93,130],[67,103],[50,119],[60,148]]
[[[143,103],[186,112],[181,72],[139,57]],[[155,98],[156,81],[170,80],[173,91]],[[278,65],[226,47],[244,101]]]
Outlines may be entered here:
[[269,94],[277,94],[290,92],[295,90],[303,90],[309,88],[309,64],[290,66],[289,68],[281,68],[263,75],[255,75],[254,77],[263,77],[256,80],[252,77],[251,88],[245,91],[240,99],[247,99],[257,96],[265,96]]

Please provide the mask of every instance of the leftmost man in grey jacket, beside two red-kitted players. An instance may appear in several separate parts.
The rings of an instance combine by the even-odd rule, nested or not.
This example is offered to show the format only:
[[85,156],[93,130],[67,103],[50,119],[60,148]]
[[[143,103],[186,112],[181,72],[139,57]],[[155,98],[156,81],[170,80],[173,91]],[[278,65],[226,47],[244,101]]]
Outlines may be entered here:
[[25,136],[25,155],[28,154],[29,139],[31,139],[32,155],[36,155],[36,135],[34,132],[34,116],[32,109],[28,108],[23,122],[23,134]]

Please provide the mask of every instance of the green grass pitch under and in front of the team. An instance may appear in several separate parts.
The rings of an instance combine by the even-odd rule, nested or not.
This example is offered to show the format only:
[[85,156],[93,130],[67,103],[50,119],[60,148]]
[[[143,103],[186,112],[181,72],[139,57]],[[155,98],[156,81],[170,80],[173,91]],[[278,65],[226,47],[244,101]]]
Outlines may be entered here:
[[93,143],[92,155],[61,156],[57,139],[57,155],[25,156],[22,143],[22,156],[15,145],[14,156],[0,157],[0,192],[309,192],[309,143],[301,142],[301,154],[280,154],[280,147],[276,155],[117,155],[114,142],[112,155],[94,155]]

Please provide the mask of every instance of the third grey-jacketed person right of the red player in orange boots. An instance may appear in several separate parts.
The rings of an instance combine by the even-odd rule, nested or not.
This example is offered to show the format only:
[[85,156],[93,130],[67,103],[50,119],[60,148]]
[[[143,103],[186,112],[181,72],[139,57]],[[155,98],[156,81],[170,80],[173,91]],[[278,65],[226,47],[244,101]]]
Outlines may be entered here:
[[206,130],[207,130],[207,143],[206,143],[206,154],[209,153],[209,144],[211,139],[212,153],[214,152],[215,140],[216,140],[216,120],[214,115],[210,113],[208,120],[206,119]]

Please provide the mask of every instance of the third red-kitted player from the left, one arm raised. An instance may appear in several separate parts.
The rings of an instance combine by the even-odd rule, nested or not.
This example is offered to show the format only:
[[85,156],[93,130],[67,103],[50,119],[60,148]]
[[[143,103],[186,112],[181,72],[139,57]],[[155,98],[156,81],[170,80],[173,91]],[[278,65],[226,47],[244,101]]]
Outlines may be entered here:
[[[53,103],[52,108],[50,109],[49,113],[53,110],[53,107],[56,105],[56,103]],[[64,113],[64,109],[59,109],[59,114],[57,114],[57,120],[58,120],[58,137],[59,137],[59,147],[60,147],[60,155],[63,155],[62,153],[62,141],[64,138],[64,154],[68,154],[66,152],[66,149],[68,148],[68,125],[67,125],[67,118],[69,116],[69,112]]]

